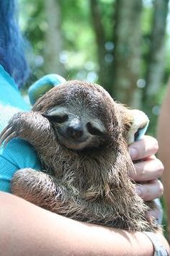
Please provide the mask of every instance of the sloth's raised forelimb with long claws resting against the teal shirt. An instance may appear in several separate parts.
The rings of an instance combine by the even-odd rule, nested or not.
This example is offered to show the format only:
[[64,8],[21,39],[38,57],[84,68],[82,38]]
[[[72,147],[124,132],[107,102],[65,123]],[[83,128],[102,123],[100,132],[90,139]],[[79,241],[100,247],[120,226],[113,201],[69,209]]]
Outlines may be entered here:
[[0,145],[2,142],[6,144],[14,137],[20,137],[38,150],[42,142],[47,140],[49,143],[52,140],[52,132],[50,122],[41,114],[34,111],[19,112],[14,114],[7,127],[1,132]]

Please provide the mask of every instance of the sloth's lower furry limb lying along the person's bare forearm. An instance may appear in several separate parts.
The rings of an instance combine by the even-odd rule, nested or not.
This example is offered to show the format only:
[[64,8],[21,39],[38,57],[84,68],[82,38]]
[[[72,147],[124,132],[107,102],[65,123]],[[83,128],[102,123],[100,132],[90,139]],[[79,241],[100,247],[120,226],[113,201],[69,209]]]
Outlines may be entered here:
[[[79,221],[90,221],[94,215],[93,208],[89,208],[87,202],[72,195],[62,182],[42,171],[20,169],[12,178],[11,190],[12,194],[41,208]],[[98,219],[94,220],[99,223]]]

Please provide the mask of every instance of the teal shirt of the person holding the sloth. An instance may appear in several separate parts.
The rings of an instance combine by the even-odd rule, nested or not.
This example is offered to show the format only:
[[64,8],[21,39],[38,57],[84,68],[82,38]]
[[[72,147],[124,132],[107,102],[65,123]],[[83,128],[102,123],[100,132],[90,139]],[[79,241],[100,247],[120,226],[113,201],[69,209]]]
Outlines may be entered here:
[[[0,132],[9,119],[19,111],[29,111],[12,77],[0,65]],[[13,139],[0,148],[0,190],[10,192],[10,182],[20,168],[40,170],[40,162],[32,146],[20,139]]]

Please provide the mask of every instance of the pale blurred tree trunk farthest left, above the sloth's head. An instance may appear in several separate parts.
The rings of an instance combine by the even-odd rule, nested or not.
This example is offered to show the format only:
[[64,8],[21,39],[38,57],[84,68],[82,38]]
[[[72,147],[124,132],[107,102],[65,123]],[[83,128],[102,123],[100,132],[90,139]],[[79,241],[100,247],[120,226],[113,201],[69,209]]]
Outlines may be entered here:
[[58,0],[45,1],[45,12],[48,22],[46,30],[45,69],[46,72],[65,74],[63,64],[60,62],[60,53],[63,50],[61,35],[61,10]]

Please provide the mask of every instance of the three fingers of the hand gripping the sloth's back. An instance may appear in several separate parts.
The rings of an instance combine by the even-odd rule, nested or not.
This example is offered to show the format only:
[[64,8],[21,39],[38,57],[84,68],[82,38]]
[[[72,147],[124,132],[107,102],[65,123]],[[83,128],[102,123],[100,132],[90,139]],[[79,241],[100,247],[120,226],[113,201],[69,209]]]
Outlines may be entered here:
[[130,177],[135,182],[144,184],[137,185],[136,192],[143,200],[153,200],[161,197],[164,187],[159,177],[163,174],[164,166],[155,154],[158,151],[158,142],[151,136],[144,136],[143,140],[134,142],[129,147],[129,153],[134,163],[135,174]]

